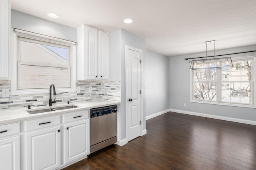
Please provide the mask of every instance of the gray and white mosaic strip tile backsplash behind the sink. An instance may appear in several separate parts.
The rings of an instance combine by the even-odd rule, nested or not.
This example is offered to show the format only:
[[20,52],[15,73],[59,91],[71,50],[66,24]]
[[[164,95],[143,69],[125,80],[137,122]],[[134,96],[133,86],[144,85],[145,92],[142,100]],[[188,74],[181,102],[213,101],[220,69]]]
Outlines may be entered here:
[[[0,80],[0,93],[2,89],[11,89],[10,80]],[[90,100],[113,100],[121,101],[121,83],[120,81],[78,81],[76,82],[77,92],[58,93],[56,89],[57,104],[64,104],[70,101],[71,103],[83,102]],[[1,109],[18,109],[23,107],[47,106],[49,103],[49,94],[35,94],[35,95],[20,95],[10,96],[10,98],[1,98],[0,95],[0,110]]]

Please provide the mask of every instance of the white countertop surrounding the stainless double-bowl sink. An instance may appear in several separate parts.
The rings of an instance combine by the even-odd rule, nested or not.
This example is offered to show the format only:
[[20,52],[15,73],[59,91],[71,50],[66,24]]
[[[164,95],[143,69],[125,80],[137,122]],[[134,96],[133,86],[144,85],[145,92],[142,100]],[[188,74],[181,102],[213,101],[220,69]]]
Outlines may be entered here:
[[56,104],[52,107],[49,106],[42,106],[42,107],[31,107],[31,109],[14,109],[14,110],[6,110],[6,111],[0,111],[0,125],[8,124],[8,123],[15,123],[18,121],[24,121],[28,119],[35,119],[40,117],[46,117],[51,115],[58,115],[62,113],[69,113],[71,111],[79,111],[79,110],[85,110],[85,109],[91,109],[96,107],[104,107],[104,106],[110,106],[115,104],[120,104],[121,102],[114,102],[110,100],[91,100],[86,102],[76,102],[76,103],[70,103],[69,105],[78,106],[76,108],[72,109],[64,109],[64,110],[57,110],[57,111],[50,111],[45,113],[36,113],[36,114],[29,114],[27,111],[33,111],[38,109],[50,109],[54,107],[60,107],[60,106],[69,106],[68,104]]

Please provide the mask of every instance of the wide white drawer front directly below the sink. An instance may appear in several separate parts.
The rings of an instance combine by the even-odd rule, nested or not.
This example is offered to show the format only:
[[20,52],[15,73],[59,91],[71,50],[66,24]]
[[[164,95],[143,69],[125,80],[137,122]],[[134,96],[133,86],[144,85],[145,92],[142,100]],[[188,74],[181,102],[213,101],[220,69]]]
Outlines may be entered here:
[[60,115],[52,116],[52,117],[44,117],[35,120],[29,120],[25,122],[25,131],[31,131],[34,129],[40,129],[44,127],[50,127],[54,125],[60,124]]

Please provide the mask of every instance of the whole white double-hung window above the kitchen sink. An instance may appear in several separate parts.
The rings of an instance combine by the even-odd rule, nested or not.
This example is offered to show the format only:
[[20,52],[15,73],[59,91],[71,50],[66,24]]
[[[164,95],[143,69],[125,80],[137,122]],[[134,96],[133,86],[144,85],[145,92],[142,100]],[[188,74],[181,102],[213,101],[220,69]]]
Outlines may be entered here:
[[13,94],[75,88],[75,43],[15,29],[13,33]]

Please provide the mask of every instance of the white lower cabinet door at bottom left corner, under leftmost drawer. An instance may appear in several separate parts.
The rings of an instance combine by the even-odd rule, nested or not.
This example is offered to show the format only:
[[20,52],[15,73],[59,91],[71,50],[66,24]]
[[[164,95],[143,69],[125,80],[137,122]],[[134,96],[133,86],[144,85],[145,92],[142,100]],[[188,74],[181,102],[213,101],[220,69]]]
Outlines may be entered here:
[[20,169],[20,136],[0,140],[0,169]]

